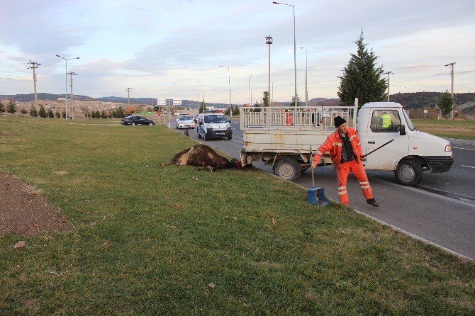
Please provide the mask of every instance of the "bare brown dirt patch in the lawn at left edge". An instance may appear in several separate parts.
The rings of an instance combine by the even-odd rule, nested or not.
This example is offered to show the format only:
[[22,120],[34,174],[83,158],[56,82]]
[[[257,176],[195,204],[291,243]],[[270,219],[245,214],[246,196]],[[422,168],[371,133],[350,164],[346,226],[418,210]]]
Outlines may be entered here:
[[0,172],[0,235],[38,235],[52,230],[70,230],[65,215],[41,196],[41,191],[13,174]]

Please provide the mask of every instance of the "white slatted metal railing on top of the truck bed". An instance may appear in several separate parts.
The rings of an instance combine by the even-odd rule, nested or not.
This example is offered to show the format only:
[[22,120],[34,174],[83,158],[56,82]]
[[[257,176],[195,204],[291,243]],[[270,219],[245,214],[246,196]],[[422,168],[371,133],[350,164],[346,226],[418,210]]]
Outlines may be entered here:
[[273,106],[240,108],[241,130],[335,130],[333,118],[340,115],[356,126],[356,106]]

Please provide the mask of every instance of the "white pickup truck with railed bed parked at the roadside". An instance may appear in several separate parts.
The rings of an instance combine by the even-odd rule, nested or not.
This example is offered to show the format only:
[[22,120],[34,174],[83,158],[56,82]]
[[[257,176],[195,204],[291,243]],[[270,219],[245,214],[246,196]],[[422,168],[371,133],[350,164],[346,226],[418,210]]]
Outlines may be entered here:
[[[242,165],[262,160],[274,173],[296,181],[311,164],[311,153],[335,131],[333,118],[340,115],[356,126],[363,154],[384,145],[363,159],[366,169],[395,171],[400,184],[415,186],[423,171],[447,172],[454,159],[450,143],[420,132],[399,103],[371,102],[359,110],[350,107],[240,108],[244,145]],[[332,164],[326,152],[318,166]]]

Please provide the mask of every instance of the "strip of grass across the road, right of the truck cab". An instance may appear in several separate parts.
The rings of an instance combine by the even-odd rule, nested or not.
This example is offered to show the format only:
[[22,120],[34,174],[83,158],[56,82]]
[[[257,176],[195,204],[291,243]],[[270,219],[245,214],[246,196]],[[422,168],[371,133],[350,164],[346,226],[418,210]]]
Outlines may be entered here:
[[475,120],[412,120],[415,128],[440,137],[475,140]]

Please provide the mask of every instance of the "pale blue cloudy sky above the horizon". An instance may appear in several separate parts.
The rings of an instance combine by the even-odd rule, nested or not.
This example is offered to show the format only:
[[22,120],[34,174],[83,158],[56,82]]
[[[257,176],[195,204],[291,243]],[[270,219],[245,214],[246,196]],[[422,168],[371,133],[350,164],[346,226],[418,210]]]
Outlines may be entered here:
[[[365,42],[391,71],[391,94],[475,92],[474,0],[313,0],[295,6],[298,95],[337,96],[342,69]],[[292,7],[272,0],[0,0],[0,94],[182,98],[248,103],[267,90],[271,35],[274,101],[294,95]],[[306,47],[307,50],[299,47]],[[225,66],[225,67],[220,67]],[[229,67],[229,70],[228,70]],[[252,75],[252,77],[250,77]],[[69,80],[69,77],[68,77]],[[272,90],[272,88],[271,88]],[[68,82],[69,93],[69,82]]]

